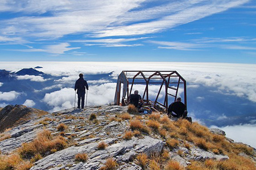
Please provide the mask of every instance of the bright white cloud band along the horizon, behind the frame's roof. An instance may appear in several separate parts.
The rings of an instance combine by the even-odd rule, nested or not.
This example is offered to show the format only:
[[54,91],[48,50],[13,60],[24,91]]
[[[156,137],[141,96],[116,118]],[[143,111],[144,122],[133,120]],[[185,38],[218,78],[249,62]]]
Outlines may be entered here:
[[[33,63],[1,62],[2,67],[18,71],[20,66],[31,67]],[[34,65],[39,65],[35,62]],[[79,73],[102,74],[110,73],[116,78],[122,70],[177,70],[191,85],[213,87],[216,92],[227,95],[236,95],[256,102],[256,67],[253,64],[236,63],[172,63],[172,62],[40,62],[41,71],[51,75],[65,75],[67,78],[59,81],[74,82],[79,78]],[[210,78],[210,79],[209,79]],[[62,83],[62,82],[61,82]]]

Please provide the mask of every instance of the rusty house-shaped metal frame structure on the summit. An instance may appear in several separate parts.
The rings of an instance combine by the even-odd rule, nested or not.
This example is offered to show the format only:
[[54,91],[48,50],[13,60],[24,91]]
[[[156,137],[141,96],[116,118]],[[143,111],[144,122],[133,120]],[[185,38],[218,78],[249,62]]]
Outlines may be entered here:
[[[121,89],[121,84],[123,87]],[[177,71],[122,71],[119,74],[117,79],[117,87],[115,90],[115,99],[114,104],[119,105],[121,99],[121,90],[122,90],[122,105],[124,99],[129,99],[131,92],[133,90],[134,84],[145,84],[144,92],[143,92],[143,100],[146,100],[146,103],[149,104],[148,99],[148,87],[150,84],[159,84],[159,91],[156,95],[154,104],[159,104],[162,107],[168,109],[168,96],[174,97],[174,101],[177,98],[178,91],[180,88],[180,84],[183,84],[183,94],[184,94],[184,104],[187,105],[187,89],[186,89],[186,81],[185,79],[177,73]],[[130,90],[129,90],[130,85]],[[160,92],[162,88],[165,88],[165,96],[164,103],[160,103],[158,101]],[[172,90],[173,93],[168,92]],[[127,98],[126,98],[127,96]]]

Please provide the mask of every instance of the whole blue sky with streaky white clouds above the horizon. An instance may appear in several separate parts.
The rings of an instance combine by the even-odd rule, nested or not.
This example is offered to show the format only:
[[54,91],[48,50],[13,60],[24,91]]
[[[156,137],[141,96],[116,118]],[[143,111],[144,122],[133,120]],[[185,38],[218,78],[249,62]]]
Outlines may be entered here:
[[256,2],[0,1],[0,61],[256,63]]

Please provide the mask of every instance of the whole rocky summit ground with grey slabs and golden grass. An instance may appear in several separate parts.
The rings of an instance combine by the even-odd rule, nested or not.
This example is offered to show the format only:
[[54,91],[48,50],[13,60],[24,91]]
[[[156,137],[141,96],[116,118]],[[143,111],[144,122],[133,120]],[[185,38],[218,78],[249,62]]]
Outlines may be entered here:
[[[7,107],[6,115],[24,108]],[[101,105],[26,114],[0,134],[0,169],[256,169],[255,149],[220,129],[128,111]]]

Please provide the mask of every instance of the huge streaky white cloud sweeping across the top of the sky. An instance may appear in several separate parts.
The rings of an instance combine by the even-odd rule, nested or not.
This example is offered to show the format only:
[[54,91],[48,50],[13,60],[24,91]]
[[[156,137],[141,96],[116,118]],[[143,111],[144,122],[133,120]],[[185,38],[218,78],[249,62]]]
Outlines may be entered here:
[[[1,1],[0,11],[23,17],[1,22],[5,35],[62,37],[88,33],[97,37],[161,32],[243,5],[249,0],[216,1]],[[39,15],[48,12],[47,16]]]

